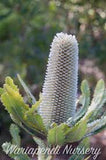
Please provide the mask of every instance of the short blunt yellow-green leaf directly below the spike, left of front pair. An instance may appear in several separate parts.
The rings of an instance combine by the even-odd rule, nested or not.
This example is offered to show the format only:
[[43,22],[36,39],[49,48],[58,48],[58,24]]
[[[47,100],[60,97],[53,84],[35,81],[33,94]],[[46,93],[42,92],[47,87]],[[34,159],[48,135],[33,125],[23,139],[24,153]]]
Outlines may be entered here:
[[65,143],[64,124],[55,126],[48,132],[48,143],[51,145],[63,145]]

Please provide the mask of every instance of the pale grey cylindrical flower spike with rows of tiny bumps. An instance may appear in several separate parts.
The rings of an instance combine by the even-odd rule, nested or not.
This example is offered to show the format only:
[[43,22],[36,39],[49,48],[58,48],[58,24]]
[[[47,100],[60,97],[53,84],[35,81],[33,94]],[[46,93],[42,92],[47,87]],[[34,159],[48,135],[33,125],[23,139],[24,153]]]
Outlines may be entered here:
[[53,39],[39,112],[44,123],[60,124],[76,110],[78,43],[75,36],[58,33]]

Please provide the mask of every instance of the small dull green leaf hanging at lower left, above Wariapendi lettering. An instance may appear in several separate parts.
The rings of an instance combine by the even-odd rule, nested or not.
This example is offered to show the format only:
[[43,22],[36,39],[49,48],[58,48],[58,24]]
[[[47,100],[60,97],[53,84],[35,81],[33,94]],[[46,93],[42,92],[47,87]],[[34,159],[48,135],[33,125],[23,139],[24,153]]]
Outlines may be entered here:
[[17,125],[15,124],[11,124],[10,126],[10,133],[11,133],[11,136],[12,136],[12,143],[17,145],[18,147],[20,146],[21,144],[21,140],[20,140],[20,136],[19,136],[19,128]]

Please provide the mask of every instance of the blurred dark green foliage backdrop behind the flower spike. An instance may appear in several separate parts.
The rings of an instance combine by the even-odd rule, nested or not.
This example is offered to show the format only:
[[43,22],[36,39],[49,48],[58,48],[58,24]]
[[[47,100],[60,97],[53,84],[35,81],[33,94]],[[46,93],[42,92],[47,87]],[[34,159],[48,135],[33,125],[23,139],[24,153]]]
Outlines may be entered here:
[[[76,35],[79,84],[86,78],[93,90],[98,79],[106,80],[105,6],[104,0],[0,0],[0,86],[19,73],[38,97],[50,43],[63,31]],[[2,143],[11,120],[0,110]]]

